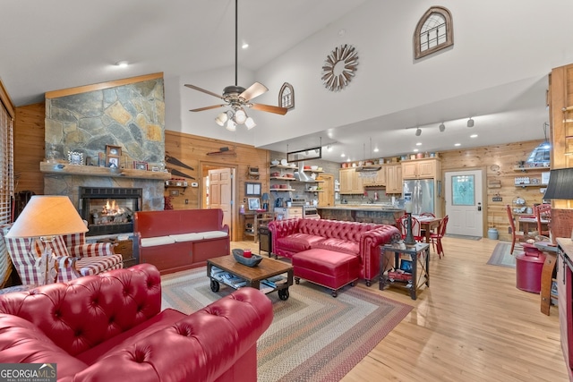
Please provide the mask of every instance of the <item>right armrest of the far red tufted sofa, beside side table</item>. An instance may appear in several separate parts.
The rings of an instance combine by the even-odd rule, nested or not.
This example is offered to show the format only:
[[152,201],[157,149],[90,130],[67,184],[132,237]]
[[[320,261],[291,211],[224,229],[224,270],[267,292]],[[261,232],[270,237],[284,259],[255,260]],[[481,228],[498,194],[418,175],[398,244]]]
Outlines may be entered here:
[[363,262],[361,276],[367,285],[370,286],[372,280],[379,276],[380,246],[391,242],[395,237],[401,238],[401,235],[394,225],[382,225],[361,235],[360,257]]

